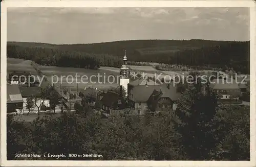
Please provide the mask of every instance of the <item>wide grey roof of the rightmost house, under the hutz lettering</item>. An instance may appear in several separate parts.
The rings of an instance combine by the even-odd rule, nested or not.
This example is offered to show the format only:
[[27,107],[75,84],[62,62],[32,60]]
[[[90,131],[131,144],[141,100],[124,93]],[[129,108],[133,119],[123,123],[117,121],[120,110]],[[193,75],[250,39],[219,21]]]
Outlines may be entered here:
[[212,89],[239,89],[236,79],[214,79],[211,81],[209,87]]

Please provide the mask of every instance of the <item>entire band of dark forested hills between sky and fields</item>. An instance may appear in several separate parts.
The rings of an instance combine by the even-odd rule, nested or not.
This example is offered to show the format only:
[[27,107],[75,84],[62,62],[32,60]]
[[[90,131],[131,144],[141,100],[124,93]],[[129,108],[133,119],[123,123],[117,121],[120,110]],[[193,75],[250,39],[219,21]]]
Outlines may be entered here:
[[[93,44],[8,42],[7,57],[33,60],[41,65],[120,67],[124,50],[131,65],[147,62],[233,68],[249,74],[249,41],[130,40]],[[143,63],[141,63],[143,62]]]

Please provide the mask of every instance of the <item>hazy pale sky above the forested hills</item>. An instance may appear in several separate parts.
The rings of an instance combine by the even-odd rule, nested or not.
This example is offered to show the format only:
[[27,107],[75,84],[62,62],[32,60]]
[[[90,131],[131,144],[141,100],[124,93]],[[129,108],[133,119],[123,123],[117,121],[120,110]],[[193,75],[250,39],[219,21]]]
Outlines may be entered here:
[[7,40],[249,40],[249,8],[8,8]]

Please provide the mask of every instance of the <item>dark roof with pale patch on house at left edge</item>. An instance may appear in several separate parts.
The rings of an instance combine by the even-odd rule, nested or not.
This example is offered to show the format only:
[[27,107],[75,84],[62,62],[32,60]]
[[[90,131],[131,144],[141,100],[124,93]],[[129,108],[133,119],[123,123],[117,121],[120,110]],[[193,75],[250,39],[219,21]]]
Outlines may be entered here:
[[7,84],[7,103],[23,103],[18,85]]

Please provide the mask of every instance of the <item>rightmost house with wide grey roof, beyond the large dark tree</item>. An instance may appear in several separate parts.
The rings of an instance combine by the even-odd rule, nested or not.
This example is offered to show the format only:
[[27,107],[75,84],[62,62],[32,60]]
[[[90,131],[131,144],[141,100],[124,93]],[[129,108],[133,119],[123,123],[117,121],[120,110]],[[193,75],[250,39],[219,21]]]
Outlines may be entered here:
[[222,101],[238,100],[241,91],[236,79],[214,79],[209,84],[209,88],[217,93]]

